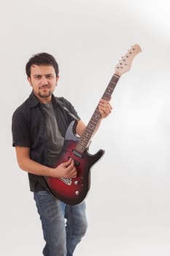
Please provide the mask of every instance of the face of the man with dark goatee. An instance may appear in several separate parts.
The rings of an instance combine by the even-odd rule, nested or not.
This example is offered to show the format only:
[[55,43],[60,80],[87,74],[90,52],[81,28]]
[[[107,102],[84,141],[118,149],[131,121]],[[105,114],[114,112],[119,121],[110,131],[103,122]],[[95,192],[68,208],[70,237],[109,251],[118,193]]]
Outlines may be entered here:
[[55,75],[53,66],[31,66],[31,78],[28,78],[28,82],[32,86],[34,94],[36,94],[36,97],[38,97],[41,102],[50,101],[57,81],[58,77]]

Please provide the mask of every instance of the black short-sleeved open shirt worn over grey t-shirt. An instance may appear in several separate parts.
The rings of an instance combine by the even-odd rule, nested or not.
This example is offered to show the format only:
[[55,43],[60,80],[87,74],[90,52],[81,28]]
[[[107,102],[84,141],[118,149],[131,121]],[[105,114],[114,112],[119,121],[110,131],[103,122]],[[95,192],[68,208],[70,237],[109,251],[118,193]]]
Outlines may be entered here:
[[[69,124],[74,120],[80,120],[80,117],[72,104],[63,97],[54,97],[52,95],[52,103],[55,118],[58,122],[58,129],[64,137]],[[15,110],[12,116],[12,139],[12,146],[29,147],[31,159],[42,165],[47,165],[47,124],[45,113],[33,92]],[[47,189],[42,176],[28,173],[28,178],[32,192]]]

